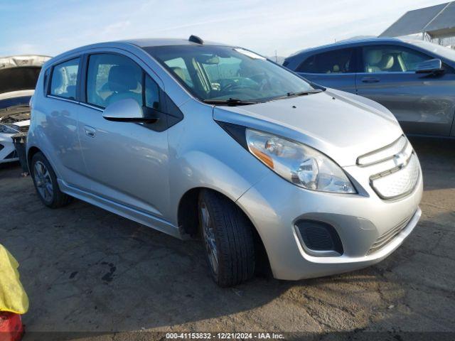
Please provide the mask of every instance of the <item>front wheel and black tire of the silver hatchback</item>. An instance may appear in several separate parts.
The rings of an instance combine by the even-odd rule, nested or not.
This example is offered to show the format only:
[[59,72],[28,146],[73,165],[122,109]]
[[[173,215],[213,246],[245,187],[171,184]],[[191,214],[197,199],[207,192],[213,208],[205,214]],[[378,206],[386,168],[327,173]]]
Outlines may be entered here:
[[228,287],[252,278],[255,241],[250,220],[227,197],[212,190],[200,193],[198,211],[205,259],[213,281]]

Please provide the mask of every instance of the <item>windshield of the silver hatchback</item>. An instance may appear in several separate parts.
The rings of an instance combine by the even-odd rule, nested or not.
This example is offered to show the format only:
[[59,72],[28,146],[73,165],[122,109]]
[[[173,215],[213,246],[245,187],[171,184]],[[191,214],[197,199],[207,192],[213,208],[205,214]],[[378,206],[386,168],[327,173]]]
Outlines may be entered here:
[[179,45],[145,48],[203,101],[265,102],[314,90],[301,77],[242,48]]

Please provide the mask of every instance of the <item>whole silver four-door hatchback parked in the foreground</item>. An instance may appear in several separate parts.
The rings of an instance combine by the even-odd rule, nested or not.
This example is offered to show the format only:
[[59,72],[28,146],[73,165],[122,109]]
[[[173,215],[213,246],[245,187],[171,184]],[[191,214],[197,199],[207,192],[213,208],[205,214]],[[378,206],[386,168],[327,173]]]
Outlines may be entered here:
[[393,115],[237,46],[98,43],[45,64],[28,164],[39,197],[77,197],[200,237],[232,286],[381,261],[412,232],[422,172]]

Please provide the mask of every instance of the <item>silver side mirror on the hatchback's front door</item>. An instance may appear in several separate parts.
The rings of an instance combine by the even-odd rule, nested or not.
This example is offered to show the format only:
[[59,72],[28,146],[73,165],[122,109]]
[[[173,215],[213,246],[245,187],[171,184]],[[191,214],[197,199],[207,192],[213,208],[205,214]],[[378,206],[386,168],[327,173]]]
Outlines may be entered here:
[[141,107],[132,98],[125,98],[109,104],[102,117],[107,121],[154,123],[159,120],[159,113],[154,109]]

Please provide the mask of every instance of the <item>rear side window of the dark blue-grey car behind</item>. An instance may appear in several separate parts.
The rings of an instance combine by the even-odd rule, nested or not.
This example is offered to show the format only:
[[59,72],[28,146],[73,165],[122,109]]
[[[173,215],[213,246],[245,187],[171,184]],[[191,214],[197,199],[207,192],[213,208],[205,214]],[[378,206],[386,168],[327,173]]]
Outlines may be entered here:
[[325,74],[355,72],[355,49],[344,48],[311,55],[296,71]]

